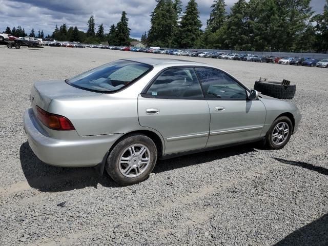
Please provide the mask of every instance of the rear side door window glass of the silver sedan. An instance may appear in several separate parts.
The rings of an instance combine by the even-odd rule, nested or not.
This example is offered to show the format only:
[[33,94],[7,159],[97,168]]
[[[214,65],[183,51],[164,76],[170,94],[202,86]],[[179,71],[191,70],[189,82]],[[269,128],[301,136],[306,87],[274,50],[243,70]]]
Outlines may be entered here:
[[147,95],[155,98],[203,99],[193,68],[172,68],[163,71],[150,86]]

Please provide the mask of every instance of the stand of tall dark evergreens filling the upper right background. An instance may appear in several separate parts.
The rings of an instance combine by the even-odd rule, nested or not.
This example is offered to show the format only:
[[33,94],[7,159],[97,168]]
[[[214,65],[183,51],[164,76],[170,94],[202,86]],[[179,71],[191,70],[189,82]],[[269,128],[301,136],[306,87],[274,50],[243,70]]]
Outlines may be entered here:
[[[228,14],[224,0],[215,0],[201,30],[198,6],[190,0],[156,0],[149,46],[257,51],[328,50],[328,0],[314,15],[311,0],[238,0]],[[165,21],[163,21],[165,20]],[[144,36],[145,34],[143,34]]]

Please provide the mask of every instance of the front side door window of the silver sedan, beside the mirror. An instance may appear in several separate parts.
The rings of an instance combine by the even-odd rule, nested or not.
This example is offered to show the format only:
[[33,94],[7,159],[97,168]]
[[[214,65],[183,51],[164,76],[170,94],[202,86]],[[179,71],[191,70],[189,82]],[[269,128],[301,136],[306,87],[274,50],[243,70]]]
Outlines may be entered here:
[[227,74],[211,68],[196,68],[207,99],[246,99],[245,88]]

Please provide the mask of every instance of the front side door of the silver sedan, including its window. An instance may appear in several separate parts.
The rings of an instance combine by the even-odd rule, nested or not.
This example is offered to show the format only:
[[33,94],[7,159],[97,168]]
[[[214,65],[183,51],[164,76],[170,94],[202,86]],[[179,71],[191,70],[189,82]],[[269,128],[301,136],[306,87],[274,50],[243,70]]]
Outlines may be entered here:
[[228,74],[212,68],[196,68],[210,114],[206,147],[258,139],[266,111],[260,100],[248,100],[247,90]]

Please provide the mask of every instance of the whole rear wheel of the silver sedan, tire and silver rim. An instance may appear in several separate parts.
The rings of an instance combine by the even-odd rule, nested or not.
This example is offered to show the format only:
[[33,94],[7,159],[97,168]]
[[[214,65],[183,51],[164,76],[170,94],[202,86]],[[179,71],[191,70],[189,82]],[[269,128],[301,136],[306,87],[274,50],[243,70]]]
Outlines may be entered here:
[[118,142],[110,152],[106,170],[123,186],[144,181],[155,167],[157,149],[146,135],[130,135]]

